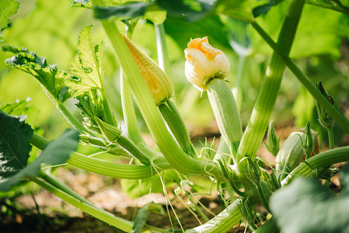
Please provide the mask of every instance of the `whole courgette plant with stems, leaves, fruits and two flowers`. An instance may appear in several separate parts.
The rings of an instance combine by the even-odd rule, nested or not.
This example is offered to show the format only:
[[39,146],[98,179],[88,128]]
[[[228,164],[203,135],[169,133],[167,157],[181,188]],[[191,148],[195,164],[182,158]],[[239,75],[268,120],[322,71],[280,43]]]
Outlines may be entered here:
[[[332,195],[328,191],[328,185],[330,178],[338,172],[333,164],[347,162],[349,159],[349,146],[334,148],[333,125],[338,124],[348,134],[349,122],[334,107],[335,98],[326,92],[322,82],[314,85],[289,56],[297,25],[302,21],[305,3],[345,15],[349,14],[348,2],[289,0],[280,24],[278,39],[273,41],[256,18],[268,17],[267,12],[281,2],[72,1],[72,5],[91,10],[95,18],[100,20],[109,46],[113,48],[115,60],[121,67],[121,104],[126,135],[120,128],[120,119],[115,118],[109,106],[104,87],[104,70],[108,69],[104,66],[105,43],[93,43],[93,25],[82,28],[78,36],[78,53],[69,63],[69,73],[61,71],[55,65],[49,65],[46,58],[26,48],[3,45],[4,52],[14,54],[5,63],[36,78],[74,129],[67,130],[60,138],[49,142],[25,122],[26,112],[18,107],[18,102],[1,105],[0,190],[6,192],[19,181],[30,180],[123,232],[168,232],[146,224],[148,212],[162,212],[161,206],[148,203],[139,210],[135,221],[115,217],[80,197],[49,171],[41,170],[41,166],[67,163],[92,173],[128,180],[145,180],[161,175],[166,170],[175,170],[181,180],[175,194],[179,197],[179,192],[186,193],[190,200],[185,204],[188,210],[195,216],[194,211],[197,211],[206,221],[192,229],[184,229],[179,223],[179,232],[227,232],[241,221],[256,232],[280,232],[282,229],[285,232],[348,232],[348,217],[340,208],[348,201],[348,168],[341,173],[341,195]],[[19,8],[19,3],[5,0],[0,4],[3,28],[8,25],[8,17]],[[249,56],[248,43],[245,49],[236,43],[232,45],[240,57],[233,95],[225,80],[232,65],[227,56],[216,45],[209,43],[210,38],[188,36],[188,47],[184,50],[187,60],[183,72],[199,92],[207,91],[221,132],[217,150],[214,142],[206,144],[201,151],[195,148],[177,109],[176,94],[171,81],[175,77],[168,76],[170,62],[165,40],[166,14],[185,17],[188,21],[201,21],[207,16],[218,14],[227,20],[227,25],[233,25],[228,27],[230,34],[238,30],[238,25],[243,25],[245,29],[250,25],[273,49],[251,118],[243,130],[239,109],[243,104],[241,93],[246,91],[241,85],[241,78],[243,70],[248,69],[244,65],[246,57]],[[155,25],[160,66],[132,41],[133,33],[136,33],[134,29],[142,18]],[[126,33],[121,34],[117,25],[124,25]],[[5,41],[5,38],[1,38],[1,41]],[[308,46],[311,46],[311,41]],[[328,131],[328,151],[318,153],[315,148],[317,133],[311,130],[310,122],[305,130],[292,133],[282,146],[279,145],[280,137],[273,128],[271,113],[286,67],[315,98],[319,122]],[[71,98],[77,101],[76,106],[84,116],[82,121],[77,120],[67,108],[66,102]],[[133,98],[157,149],[148,146],[142,137]],[[275,155],[276,162],[276,167],[271,172],[261,166],[262,159],[257,156],[257,150],[267,130],[267,148]],[[76,153],[74,151],[79,142],[97,146],[101,151],[112,155],[130,157],[137,162],[118,164]],[[28,164],[32,146],[41,149],[42,153],[34,162]],[[210,219],[203,214],[201,203],[191,198],[193,195],[188,191],[187,186],[191,184],[188,177],[210,177],[216,182],[221,194],[227,189],[236,199],[224,200],[225,210]],[[319,179],[326,180],[324,185],[319,183]],[[319,195],[313,196],[314,192]],[[164,194],[167,196],[166,191]],[[307,202],[303,205],[304,200]],[[264,223],[257,221],[256,205],[260,203],[269,213]],[[311,216],[312,212],[321,212],[320,210],[328,208],[333,211],[324,211],[318,217]],[[299,214],[302,211],[308,214]],[[337,218],[337,221],[329,221],[331,218]],[[315,220],[309,223],[309,219]],[[170,231],[177,232],[175,229]]]

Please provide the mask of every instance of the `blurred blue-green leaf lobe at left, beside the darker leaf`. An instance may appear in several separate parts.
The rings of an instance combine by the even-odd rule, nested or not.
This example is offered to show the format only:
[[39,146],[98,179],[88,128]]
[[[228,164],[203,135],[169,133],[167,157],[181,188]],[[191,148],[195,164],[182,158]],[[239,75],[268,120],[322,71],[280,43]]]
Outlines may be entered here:
[[[15,175],[8,179],[2,179],[0,183],[0,191],[7,192],[12,186],[17,184],[25,177],[38,175],[41,164],[58,165],[64,164],[69,158],[71,151],[75,151],[78,147],[79,133],[74,129],[67,129],[57,140],[53,140],[45,145],[41,155],[25,168],[19,170]],[[29,142],[25,142],[29,145]],[[20,147],[19,145],[16,145]]]

